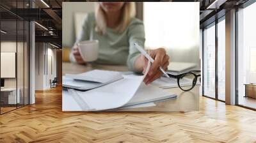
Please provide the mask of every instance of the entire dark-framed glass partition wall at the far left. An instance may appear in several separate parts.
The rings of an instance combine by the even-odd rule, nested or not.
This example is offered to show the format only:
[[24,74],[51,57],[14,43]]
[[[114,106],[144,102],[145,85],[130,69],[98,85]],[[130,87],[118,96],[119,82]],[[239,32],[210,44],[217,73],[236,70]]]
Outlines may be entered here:
[[[23,2],[12,1],[12,4],[22,8]],[[3,114],[29,104],[29,22],[3,7],[0,11],[0,114]]]

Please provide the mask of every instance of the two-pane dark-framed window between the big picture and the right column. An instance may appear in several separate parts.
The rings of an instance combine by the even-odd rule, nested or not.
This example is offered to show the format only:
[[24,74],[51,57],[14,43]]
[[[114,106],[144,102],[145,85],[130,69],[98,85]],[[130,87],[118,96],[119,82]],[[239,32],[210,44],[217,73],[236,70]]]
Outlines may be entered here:
[[225,102],[225,16],[203,29],[203,96]]

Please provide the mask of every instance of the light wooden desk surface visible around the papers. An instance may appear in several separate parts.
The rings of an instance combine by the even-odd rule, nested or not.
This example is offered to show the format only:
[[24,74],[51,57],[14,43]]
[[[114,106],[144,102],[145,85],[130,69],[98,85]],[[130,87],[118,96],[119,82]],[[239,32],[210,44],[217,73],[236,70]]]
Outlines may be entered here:
[[[62,63],[62,74],[65,73],[82,73],[93,69],[101,70],[116,70],[120,72],[127,71],[126,66],[112,66],[112,65],[99,65],[88,64],[86,66],[74,63]],[[177,94],[177,98],[166,100],[164,102],[156,102],[154,107],[141,107],[136,109],[122,109],[118,111],[180,111],[187,112],[199,109],[199,87],[195,86],[191,91],[184,92],[179,87],[164,89],[170,93]]]

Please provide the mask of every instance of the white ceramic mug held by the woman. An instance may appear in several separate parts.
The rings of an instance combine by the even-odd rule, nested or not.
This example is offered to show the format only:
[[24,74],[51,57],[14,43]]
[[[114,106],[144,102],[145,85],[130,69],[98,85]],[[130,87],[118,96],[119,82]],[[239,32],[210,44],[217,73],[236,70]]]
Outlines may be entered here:
[[77,46],[84,61],[90,62],[97,60],[99,51],[98,40],[80,41],[77,43]]

